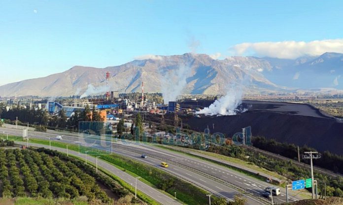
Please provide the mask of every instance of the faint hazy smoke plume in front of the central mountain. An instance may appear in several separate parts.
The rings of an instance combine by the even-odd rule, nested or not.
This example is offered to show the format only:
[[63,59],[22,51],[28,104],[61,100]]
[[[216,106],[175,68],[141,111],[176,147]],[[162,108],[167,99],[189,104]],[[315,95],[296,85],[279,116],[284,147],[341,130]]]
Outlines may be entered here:
[[182,94],[182,90],[187,85],[186,79],[190,74],[191,68],[189,66],[179,66],[166,74],[162,74],[161,90],[164,103],[177,100],[178,96]]

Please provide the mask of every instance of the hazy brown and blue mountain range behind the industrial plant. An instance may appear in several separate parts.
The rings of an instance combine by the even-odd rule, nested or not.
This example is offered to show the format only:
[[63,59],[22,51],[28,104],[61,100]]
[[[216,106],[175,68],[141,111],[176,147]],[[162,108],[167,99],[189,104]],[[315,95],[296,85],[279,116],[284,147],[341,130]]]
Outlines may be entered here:
[[[106,71],[110,72],[108,82]],[[175,88],[183,94],[224,95],[233,84],[242,85],[249,93],[343,89],[342,74],[340,53],[294,60],[240,56],[216,60],[206,54],[186,53],[150,56],[107,68],[75,66],[46,77],[2,85],[0,96],[71,96],[103,94],[105,90],[140,92],[142,82],[144,92],[149,93]]]

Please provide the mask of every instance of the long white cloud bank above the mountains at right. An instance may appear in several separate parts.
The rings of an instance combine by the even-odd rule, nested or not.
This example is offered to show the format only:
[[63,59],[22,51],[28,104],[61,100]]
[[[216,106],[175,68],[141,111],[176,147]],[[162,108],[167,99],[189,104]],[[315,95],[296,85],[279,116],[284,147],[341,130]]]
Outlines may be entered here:
[[230,50],[235,55],[295,59],[305,55],[321,55],[325,52],[343,53],[343,39],[240,43]]

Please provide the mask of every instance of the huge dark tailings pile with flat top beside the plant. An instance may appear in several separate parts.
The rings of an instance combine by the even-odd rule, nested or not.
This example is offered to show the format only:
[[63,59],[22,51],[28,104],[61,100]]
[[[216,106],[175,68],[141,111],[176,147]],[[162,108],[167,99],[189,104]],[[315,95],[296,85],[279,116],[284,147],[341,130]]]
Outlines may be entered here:
[[[213,101],[181,103],[182,107],[208,106]],[[274,138],[280,142],[308,145],[319,151],[343,154],[343,123],[307,104],[243,101],[246,112],[231,116],[204,116],[185,119],[192,129],[220,132],[232,137],[241,128],[251,126],[253,136]],[[214,130],[213,130],[214,124]]]

